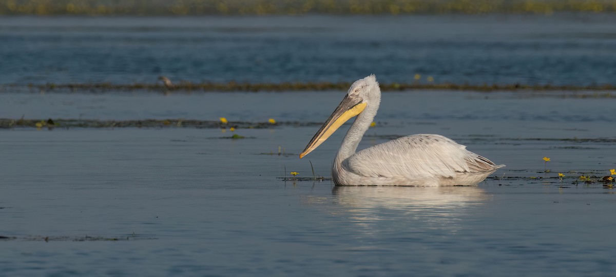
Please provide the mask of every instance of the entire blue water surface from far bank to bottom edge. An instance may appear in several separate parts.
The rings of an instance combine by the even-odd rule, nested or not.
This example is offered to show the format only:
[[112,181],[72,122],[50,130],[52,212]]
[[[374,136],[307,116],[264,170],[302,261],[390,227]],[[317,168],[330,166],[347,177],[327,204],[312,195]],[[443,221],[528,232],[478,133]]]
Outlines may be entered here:
[[[10,237],[0,276],[612,276],[616,191],[573,182],[616,168],[614,92],[384,93],[360,148],[437,133],[507,167],[477,187],[334,187],[282,178],[312,176],[309,161],[330,176],[347,127],[298,153],[344,92],[3,85],[370,73],[614,84],[615,27],[609,14],[0,18],[0,119],[285,123],[235,131],[246,139],[211,128],[0,130],[0,236]],[[269,155],[278,147],[286,155]]]

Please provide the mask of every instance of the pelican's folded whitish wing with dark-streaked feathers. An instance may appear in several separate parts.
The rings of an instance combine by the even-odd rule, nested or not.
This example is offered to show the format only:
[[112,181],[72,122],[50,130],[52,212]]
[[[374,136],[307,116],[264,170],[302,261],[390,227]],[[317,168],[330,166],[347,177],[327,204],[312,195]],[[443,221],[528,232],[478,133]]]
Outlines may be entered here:
[[487,158],[440,135],[413,135],[368,147],[344,161],[360,176],[387,178],[454,177],[456,173],[496,170]]

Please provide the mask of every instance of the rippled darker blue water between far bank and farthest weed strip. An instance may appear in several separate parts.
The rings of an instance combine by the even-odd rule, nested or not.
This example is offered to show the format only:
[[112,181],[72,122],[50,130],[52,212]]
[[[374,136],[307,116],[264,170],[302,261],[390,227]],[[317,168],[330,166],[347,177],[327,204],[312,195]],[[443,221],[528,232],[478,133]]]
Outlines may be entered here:
[[2,17],[0,84],[615,84],[612,14]]

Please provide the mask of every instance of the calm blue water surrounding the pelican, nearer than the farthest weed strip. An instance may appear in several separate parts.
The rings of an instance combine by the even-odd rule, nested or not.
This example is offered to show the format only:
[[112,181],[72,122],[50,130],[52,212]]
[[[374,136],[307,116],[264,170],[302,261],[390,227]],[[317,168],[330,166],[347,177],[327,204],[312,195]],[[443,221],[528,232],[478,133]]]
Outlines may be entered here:
[[[312,122],[342,97],[309,95],[4,93],[0,117]],[[0,235],[16,238],[0,241],[0,275],[611,276],[616,193],[571,182],[616,167],[606,128],[613,106],[508,93],[383,95],[379,125],[360,148],[439,133],[508,165],[495,175],[546,177],[478,187],[282,181],[285,171],[312,176],[308,159],[330,175],[344,130],[302,160],[260,155],[278,146],[299,153],[316,126],[240,129],[254,138],[237,140],[219,139],[230,132],[218,129],[3,130]],[[552,173],[540,173],[544,156]],[[560,182],[557,172],[573,178]],[[86,236],[128,240],[73,241]]]

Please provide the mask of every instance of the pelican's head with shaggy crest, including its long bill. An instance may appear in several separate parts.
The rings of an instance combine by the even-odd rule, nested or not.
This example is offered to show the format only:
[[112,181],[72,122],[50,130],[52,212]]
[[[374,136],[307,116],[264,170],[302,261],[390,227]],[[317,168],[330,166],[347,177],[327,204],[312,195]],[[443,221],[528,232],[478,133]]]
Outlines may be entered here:
[[344,96],[342,102],[330,115],[330,118],[323,123],[323,126],[321,126],[314,137],[312,137],[306,149],[299,154],[299,158],[303,158],[320,146],[323,141],[329,138],[334,131],[338,130],[344,122],[360,114],[368,105],[371,105],[373,108],[378,108],[380,102],[381,89],[379,88],[379,83],[376,82],[375,74],[356,80],[349,88],[349,92]]

